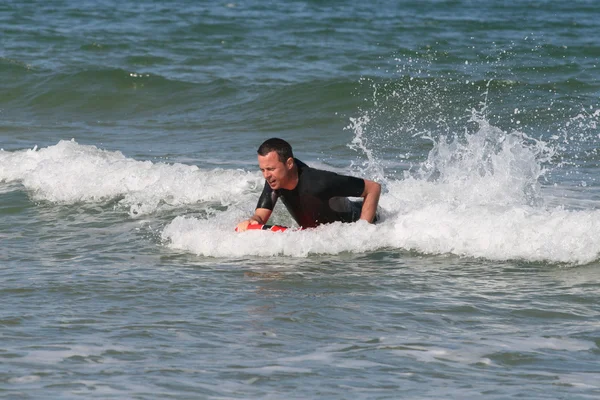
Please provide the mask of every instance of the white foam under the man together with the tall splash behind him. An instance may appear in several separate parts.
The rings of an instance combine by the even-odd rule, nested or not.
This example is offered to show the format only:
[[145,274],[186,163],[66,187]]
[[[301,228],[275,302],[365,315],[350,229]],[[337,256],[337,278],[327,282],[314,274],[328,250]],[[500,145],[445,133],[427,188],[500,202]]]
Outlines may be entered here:
[[396,248],[495,260],[596,260],[600,210],[544,205],[538,180],[553,150],[520,132],[502,132],[477,116],[472,121],[479,123],[477,132],[434,141],[419,168],[386,182],[388,191],[380,201],[383,219],[377,225],[236,234],[233,220],[228,225],[180,217],[165,228],[163,238],[173,248],[214,257]]

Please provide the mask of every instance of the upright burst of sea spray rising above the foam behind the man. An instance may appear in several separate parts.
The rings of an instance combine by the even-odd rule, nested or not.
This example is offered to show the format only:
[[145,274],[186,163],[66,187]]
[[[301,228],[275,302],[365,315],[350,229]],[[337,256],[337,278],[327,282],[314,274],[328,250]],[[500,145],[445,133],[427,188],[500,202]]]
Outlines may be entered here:
[[504,132],[473,110],[475,133],[431,136],[433,148],[405,178],[433,181],[446,198],[464,204],[541,204],[539,179],[554,149],[520,131]]

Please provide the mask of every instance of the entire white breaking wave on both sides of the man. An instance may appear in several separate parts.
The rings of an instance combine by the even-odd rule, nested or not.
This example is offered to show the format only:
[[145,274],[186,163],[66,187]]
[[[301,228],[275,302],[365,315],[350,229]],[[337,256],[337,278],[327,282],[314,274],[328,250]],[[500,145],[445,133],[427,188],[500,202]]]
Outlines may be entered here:
[[[0,151],[0,181],[19,183],[35,199],[51,202],[117,200],[131,216],[160,213],[162,205],[207,202],[205,216],[182,211],[162,231],[168,247],[201,256],[306,257],[392,248],[494,260],[597,260],[600,210],[545,205],[538,180],[552,149],[520,132],[473,121],[479,123],[476,132],[432,139],[421,165],[384,182],[382,221],[376,225],[236,233],[236,223],[256,204],[263,184],[258,171],[137,161],[75,141]],[[274,219],[291,223],[281,205]]]

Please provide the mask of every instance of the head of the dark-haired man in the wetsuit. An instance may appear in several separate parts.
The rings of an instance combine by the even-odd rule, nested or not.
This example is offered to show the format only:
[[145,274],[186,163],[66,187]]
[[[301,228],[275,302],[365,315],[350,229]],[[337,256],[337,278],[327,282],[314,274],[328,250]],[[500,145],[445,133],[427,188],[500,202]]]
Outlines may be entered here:
[[292,146],[283,139],[266,140],[258,148],[258,166],[271,189],[293,189],[294,173]]

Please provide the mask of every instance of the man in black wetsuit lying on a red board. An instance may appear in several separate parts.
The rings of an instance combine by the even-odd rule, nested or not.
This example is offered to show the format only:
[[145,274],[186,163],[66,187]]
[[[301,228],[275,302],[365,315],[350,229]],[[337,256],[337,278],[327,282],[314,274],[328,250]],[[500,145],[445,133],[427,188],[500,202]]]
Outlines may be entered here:
[[[254,215],[237,226],[266,224],[279,198],[302,228],[331,222],[376,221],[381,185],[376,182],[311,168],[294,158],[292,147],[272,138],[258,148],[258,165],[265,186]],[[348,197],[362,197],[362,202]]]

